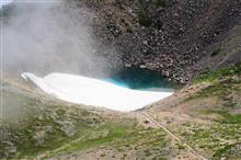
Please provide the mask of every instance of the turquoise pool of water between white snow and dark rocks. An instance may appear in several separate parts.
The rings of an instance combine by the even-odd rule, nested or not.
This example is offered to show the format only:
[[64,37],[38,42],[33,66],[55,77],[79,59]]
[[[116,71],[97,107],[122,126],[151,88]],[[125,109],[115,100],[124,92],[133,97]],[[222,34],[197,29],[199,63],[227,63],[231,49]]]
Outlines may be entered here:
[[169,90],[174,88],[174,85],[159,72],[136,68],[117,71],[113,73],[111,78],[105,79],[105,81],[136,90]]

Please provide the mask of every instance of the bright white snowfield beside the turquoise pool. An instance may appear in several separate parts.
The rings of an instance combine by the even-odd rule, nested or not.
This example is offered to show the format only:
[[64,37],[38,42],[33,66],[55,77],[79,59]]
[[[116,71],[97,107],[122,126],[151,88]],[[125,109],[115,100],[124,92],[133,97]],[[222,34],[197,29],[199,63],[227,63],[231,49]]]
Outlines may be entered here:
[[172,94],[131,90],[106,81],[67,73],[49,73],[39,78],[24,72],[21,77],[57,99],[115,111],[135,111]]

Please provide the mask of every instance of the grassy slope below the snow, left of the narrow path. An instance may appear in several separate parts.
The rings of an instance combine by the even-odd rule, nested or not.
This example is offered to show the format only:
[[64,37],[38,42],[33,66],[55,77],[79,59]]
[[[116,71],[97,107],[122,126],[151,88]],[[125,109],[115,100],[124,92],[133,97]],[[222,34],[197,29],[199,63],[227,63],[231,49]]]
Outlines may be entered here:
[[1,85],[1,158],[165,159],[179,152],[163,130],[144,128],[136,118],[113,112],[106,116],[42,99],[8,82]]

